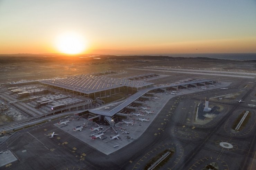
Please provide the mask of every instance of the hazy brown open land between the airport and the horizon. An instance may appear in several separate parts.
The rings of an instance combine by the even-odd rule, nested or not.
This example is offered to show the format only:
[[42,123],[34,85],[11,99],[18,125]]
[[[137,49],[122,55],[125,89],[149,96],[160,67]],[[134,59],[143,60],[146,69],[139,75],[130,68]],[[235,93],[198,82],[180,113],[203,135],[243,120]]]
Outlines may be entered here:
[[[173,58],[168,56],[64,56],[64,55],[0,55],[0,83],[35,80],[115,70],[115,77],[135,75],[126,68],[159,66],[256,73],[255,61],[210,58]],[[137,71],[137,74],[143,74]]]

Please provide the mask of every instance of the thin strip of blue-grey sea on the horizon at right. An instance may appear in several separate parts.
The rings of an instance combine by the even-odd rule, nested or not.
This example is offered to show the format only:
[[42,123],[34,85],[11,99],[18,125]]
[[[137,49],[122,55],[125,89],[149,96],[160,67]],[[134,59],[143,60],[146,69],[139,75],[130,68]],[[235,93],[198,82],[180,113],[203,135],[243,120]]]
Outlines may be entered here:
[[[150,54],[150,56],[153,56],[153,55]],[[226,59],[226,60],[256,60],[256,53],[154,54],[154,56],[185,57],[185,58],[206,57],[206,58]]]

